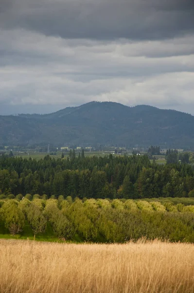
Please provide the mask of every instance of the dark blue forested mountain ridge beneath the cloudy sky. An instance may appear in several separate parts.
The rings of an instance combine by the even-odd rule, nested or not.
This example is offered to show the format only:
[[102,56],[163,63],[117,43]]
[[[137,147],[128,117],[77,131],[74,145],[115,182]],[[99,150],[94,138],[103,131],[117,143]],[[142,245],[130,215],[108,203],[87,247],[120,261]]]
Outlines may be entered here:
[[0,116],[0,144],[160,145],[194,149],[194,116],[148,105],[90,102],[51,114]]

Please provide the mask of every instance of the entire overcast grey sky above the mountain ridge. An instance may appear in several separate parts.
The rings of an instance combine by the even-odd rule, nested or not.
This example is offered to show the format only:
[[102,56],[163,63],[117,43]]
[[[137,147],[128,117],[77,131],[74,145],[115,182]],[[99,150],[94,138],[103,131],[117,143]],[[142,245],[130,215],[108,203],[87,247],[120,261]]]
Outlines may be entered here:
[[194,0],[0,0],[0,114],[90,101],[194,115]]

